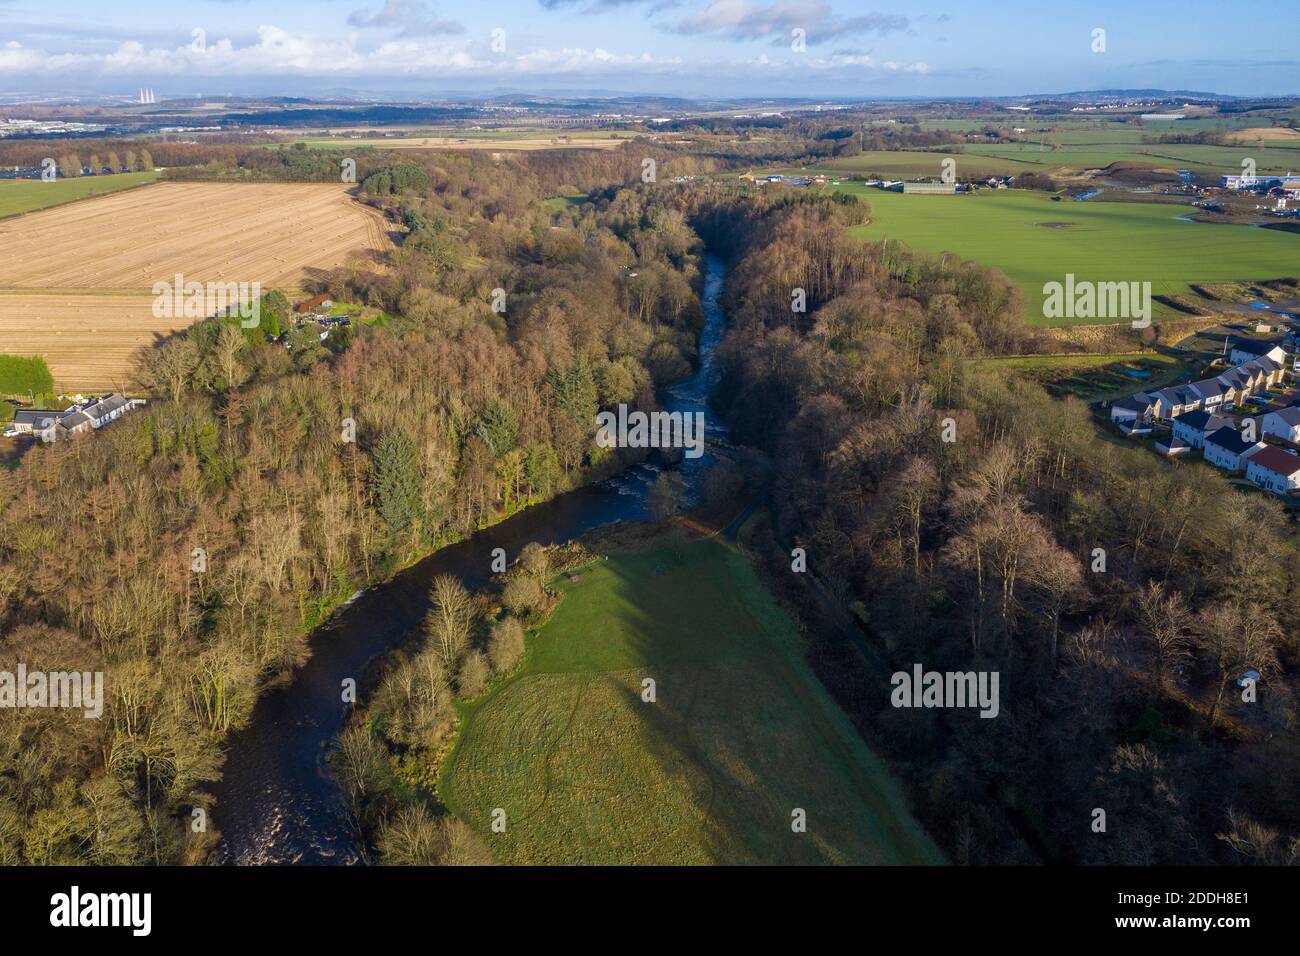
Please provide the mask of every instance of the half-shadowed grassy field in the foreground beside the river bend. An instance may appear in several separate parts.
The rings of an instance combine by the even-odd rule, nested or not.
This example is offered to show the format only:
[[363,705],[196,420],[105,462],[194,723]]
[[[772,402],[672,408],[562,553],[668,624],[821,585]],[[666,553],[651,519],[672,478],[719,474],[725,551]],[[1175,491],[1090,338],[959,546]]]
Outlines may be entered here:
[[[697,540],[555,585],[439,783],[500,862],[942,862],[742,554]],[[488,832],[494,808],[504,834]]]

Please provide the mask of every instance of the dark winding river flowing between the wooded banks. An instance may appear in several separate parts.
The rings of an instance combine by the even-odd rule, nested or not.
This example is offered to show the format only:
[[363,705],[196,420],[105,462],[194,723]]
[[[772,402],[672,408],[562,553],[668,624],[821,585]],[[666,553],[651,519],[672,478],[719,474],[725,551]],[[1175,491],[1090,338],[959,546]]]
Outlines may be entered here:
[[[706,414],[706,451],[681,466],[694,490],[714,462],[710,441],[725,440],[707,414],[716,376],[715,354],[725,332],[722,289],[725,271],[705,259],[699,368],[670,389],[668,411]],[[594,424],[593,424],[594,428]],[[212,819],[221,832],[216,858],[226,864],[352,864],[360,860],[343,793],[326,763],[328,747],[343,727],[346,678],[360,680],[367,665],[408,640],[429,610],[429,585],[442,574],[476,588],[491,576],[491,551],[514,559],[529,541],[560,544],[601,524],[640,520],[659,468],[644,463],[623,475],[537,505],[443,548],[361,593],[311,637],[311,659],[292,678],[268,689],[252,719],[231,735],[221,782],[213,788]]]

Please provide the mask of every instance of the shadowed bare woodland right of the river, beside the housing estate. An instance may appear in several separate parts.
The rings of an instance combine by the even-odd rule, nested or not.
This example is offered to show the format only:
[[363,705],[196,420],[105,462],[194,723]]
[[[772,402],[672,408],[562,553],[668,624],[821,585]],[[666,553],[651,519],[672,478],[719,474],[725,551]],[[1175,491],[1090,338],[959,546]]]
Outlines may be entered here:
[[[831,207],[766,202],[698,213],[734,247],[719,402],[772,458],[772,578],[788,583],[805,548],[866,635],[859,654],[810,630],[819,675],[949,856],[1300,858],[1282,507],[974,364],[1028,334],[1000,274],[855,242]],[[894,709],[888,678],[915,663],[998,671],[998,718]]]

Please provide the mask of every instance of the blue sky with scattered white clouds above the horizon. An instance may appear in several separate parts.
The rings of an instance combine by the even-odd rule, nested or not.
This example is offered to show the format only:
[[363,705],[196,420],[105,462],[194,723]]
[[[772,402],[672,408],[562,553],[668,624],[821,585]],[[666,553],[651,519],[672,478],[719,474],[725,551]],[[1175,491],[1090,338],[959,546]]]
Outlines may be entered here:
[[[1091,0],[0,0],[0,94],[1300,92],[1295,10]],[[1244,9],[1244,8],[1243,8]],[[1102,33],[1098,33],[1102,31]],[[1100,47],[1100,49],[1098,49]]]

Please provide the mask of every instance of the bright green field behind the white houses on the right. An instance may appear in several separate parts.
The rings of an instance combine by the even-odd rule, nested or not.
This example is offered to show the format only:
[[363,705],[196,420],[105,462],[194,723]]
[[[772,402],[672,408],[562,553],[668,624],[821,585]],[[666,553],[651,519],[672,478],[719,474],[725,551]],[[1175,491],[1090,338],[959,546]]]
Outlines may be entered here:
[[[916,196],[858,183],[837,189],[871,203],[872,221],[854,230],[927,252],[956,252],[1005,272],[1024,291],[1026,317],[1043,317],[1043,285],[1065,274],[1095,282],[1149,281],[1153,295],[1187,293],[1193,282],[1300,274],[1300,235],[1245,225],[1186,222],[1187,207],[1160,203],[1052,202],[1028,190]],[[1156,316],[1167,315],[1160,303]]]

